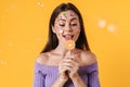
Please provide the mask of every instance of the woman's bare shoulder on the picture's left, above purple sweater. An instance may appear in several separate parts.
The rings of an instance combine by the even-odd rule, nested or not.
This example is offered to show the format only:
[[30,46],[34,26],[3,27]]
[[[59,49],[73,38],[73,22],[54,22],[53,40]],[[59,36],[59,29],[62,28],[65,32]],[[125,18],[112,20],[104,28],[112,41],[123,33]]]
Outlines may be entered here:
[[40,64],[47,64],[49,60],[49,53],[40,53],[37,58],[36,58],[36,62],[40,63]]

